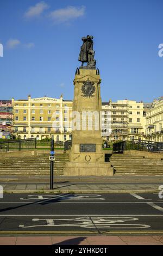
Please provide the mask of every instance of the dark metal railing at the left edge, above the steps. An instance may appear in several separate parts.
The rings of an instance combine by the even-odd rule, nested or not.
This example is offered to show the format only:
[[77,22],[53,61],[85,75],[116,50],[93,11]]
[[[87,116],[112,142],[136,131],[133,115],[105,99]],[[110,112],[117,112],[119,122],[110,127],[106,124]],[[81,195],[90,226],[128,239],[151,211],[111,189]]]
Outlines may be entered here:
[[36,138],[0,142],[0,152],[36,149]]

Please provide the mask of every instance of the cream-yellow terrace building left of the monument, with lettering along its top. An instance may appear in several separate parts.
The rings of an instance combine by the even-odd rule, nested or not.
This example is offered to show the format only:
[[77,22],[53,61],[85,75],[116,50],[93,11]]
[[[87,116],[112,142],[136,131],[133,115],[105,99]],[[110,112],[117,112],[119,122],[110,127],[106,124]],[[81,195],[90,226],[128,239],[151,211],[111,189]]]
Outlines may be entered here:
[[[44,139],[54,136],[55,141],[71,139],[72,101],[52,97],[32,98],[28,100],[12,99],[14,107],[15,138]],[[68,116],[68,117],[67,117]]]

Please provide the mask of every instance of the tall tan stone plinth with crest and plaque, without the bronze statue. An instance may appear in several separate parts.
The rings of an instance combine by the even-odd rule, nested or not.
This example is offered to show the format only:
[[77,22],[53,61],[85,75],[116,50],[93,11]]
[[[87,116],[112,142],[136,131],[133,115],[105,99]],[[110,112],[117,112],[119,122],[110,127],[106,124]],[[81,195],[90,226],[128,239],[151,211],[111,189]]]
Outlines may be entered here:
[[[77,69],[74,78],[73,111],[80,114],[80,127],[82,128],[83,112],[98,113],[98,120],[92,116],[92,130],[88,129],[88,120],[85,119],[86,129],[72,131],[72,147],[69,151],[69,160],[64,168],[66,176],[112,176],[113,168],[105,162],[102,152],[102,136],[100,125],[101,93],[99,70]],[[95,124],[98,123],[98,129]]]

